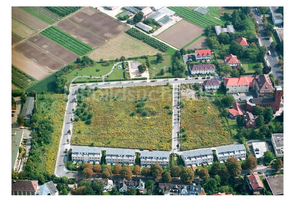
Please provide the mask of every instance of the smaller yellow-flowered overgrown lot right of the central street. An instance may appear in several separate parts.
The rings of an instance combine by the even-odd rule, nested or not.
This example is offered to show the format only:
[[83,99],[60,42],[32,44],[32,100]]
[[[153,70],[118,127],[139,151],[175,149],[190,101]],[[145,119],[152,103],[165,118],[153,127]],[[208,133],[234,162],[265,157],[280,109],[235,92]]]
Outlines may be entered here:
[[215,105],[206,99],[185,99],[183,103],[185,104],[181,110],[181,128],[185,128],[185,132],[181,134],[183,150],[233,144]]

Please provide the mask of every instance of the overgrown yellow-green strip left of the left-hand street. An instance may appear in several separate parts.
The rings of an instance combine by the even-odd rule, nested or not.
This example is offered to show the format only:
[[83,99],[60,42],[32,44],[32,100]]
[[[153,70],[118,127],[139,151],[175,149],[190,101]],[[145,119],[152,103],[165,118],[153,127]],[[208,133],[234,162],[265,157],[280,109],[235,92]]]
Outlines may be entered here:
[[39,120],[49,118],[54,126],[51,144],[41,146],[43,150],[43,161],[39,162],[42,169],[47,173],[53,174],[57,159],[57,152],[61,137],[66,102],[64,94],[37,94],[36,108]]

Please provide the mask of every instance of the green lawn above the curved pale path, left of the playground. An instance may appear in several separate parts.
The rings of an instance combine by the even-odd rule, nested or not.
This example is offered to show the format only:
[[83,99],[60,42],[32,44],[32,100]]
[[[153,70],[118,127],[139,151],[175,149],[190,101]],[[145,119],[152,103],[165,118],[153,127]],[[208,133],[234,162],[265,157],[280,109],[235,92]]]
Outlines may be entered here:
[[[97,63],[94,67],[89,66],[82,69],[73,70],[71,73],[67,74],[68,81],[72,81],[75,77],[79,76],[102,76],[109,73],[112,69],[114,64],[110,64],[109,66],[105,67],[102,63]],[[96,69],[100,71],[97,72]],[[76,81],[79,81],[78,79]]]

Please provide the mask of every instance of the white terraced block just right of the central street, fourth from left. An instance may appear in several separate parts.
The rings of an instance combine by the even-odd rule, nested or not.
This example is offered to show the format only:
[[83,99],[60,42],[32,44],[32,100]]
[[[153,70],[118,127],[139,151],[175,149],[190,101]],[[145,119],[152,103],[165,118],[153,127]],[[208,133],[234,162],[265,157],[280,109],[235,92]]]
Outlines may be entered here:
[[213,161],[213,152],[210,148],[185,151],[181,156],[185,166],[207,165]]

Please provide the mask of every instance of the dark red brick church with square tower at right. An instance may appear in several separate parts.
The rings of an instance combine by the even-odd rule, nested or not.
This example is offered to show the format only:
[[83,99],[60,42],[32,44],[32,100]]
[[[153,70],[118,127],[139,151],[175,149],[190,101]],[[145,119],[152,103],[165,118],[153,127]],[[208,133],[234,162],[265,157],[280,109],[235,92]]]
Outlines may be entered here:
[[252,112],[255,106],[260,107],[272,107],[273,112],[277,112],[280,109],[281,97],[283,95],[283,89],[281,86],[274,87],[273,97],[260,97],[260,98],[250,98],[245,102],[246,110]]

